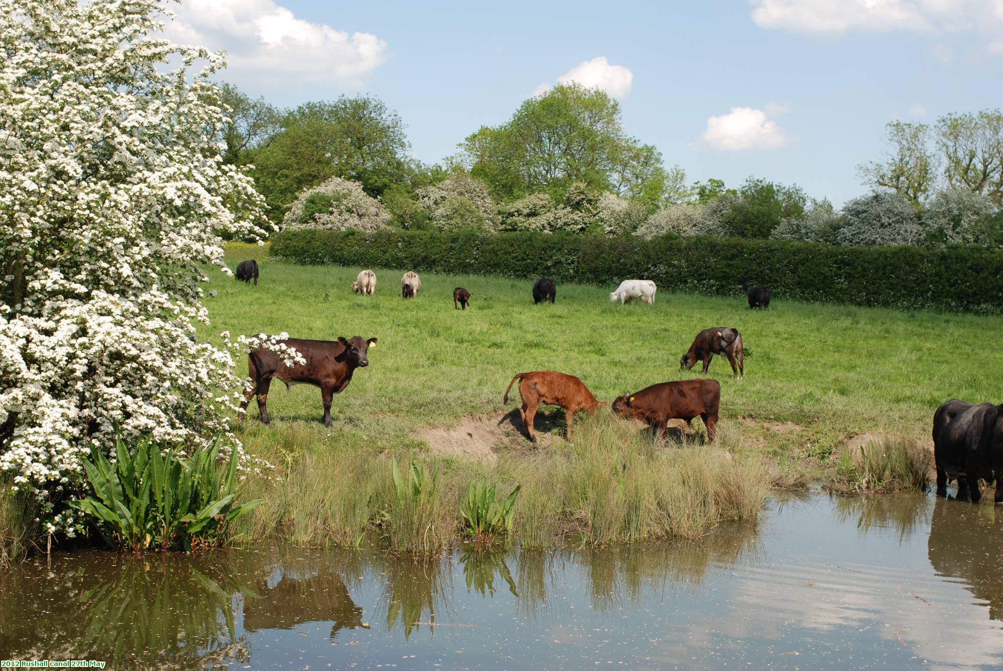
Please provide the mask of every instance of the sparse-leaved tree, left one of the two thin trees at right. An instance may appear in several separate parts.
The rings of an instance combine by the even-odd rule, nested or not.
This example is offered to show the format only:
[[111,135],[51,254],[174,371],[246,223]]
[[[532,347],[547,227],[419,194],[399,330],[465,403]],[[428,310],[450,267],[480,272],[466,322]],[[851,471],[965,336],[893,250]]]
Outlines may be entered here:
[[888,150],[880,161],[861,163],[857,170],[864,183],[889,189],[920,205],[937,181],[937,156],[930,149],[930,126],[925,123],[892,121],[885,126]]

